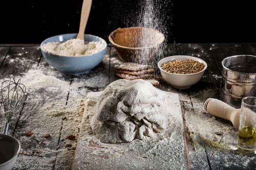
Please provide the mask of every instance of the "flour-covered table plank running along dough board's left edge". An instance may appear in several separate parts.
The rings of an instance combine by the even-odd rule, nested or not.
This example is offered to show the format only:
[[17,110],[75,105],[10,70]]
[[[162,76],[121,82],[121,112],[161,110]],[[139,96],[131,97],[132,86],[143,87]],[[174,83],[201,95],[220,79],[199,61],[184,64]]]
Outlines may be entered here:
[[[89,73],[72,76],[67,105],[65,106],[67,114],[63,115],[65,119],[62,123],[58,145],[58,150],[61,151],[61,154],[56,154],[54,164],[54,169],[56,170],[70,170],[72,167],[77,139],[79,138],[81,119],[83,117],[84,100],[87,93],[90,91],[101,91],[109,84],[109,51],[110,47],[107,48],[103,61]],[[68,139],[67,137],[70,135],[74,135],[75,138],[72,140]],[[70,147],[65,146],[68,143],[71,144]]]

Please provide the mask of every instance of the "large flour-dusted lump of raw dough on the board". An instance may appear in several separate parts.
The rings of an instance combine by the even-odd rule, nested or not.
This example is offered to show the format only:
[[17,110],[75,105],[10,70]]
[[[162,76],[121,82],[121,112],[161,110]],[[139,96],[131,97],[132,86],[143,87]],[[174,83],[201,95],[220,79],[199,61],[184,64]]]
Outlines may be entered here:
[[90,124],[104,143],[143,139],[168,125],[166,94],[143,79],[119,79],[100,95]]

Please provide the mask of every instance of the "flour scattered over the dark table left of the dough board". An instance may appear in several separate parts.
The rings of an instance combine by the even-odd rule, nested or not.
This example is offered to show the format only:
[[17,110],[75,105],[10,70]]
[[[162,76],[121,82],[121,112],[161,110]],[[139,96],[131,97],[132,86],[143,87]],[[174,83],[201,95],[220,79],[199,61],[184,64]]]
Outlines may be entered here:
[[[21,115],[15,114],[9,125],[8,134],[17,126],[14,137],[21,143],[13,170],[46,170],[53,166],[54,169],[70,170],[72,167],[84,110],[83,99],[88,93],[84,86],[96,86],[98,79],[85,81],[85,85],[78,79],[60,78],[63,75],[58,74],[35,64],[26,74],[14,77],[15,80],[20,78],[26,86],[27,103]],[[3,124],[2,116],[0,122]],[[34,134],[25,136],[28,131]],[[46,134],[50,137],[45,138]],[[68,135],[75,138],[67,139]]]

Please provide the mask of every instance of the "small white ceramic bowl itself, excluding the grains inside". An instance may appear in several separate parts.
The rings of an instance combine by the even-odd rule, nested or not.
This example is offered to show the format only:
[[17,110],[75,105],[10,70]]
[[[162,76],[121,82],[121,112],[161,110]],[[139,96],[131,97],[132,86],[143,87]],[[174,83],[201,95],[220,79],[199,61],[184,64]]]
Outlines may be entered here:
[[[198,73],[175,74],[175,73],[169,73],[168,71],[164,71],[161,67],[163,63],[166,63],[171,60],[187,60],[187,59],[192,59],[192,60],[203,63],[204,69]],[[199,80],[202,78],[204,74],[204,71],[207,68],[207,63],[198,57],[192,57],[189,55],[173,55],[173,56],[165,57],[162,60],[160,60],[157,63],[157,66],[160,69],[161,75],[166,82],[171,84],[174,88],[186,89],[186,88],[190,88],[193,84],[196,84],[197,82],[199,82]]]

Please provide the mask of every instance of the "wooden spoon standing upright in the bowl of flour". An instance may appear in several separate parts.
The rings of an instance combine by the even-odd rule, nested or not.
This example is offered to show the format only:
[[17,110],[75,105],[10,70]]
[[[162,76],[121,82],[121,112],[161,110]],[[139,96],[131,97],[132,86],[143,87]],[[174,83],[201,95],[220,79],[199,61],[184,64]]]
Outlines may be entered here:
[[91,7],[92,0],[83,0],[79,32],[76,36],[76,42],[74,44],[74,50],[76,53],[79,54],[83,54],[86,51],[86,46],[84,45],[84,32],[90,15]]

